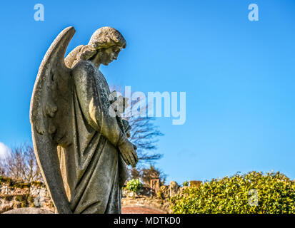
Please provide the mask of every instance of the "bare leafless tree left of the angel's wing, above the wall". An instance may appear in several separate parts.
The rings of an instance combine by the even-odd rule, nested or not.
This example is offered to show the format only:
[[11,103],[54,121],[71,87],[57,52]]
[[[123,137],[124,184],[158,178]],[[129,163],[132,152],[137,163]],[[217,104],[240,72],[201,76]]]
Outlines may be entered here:
[[24,182],[42,180],[34,148],[31,145],[21,145],[14,148],[1,163],[6,177]]

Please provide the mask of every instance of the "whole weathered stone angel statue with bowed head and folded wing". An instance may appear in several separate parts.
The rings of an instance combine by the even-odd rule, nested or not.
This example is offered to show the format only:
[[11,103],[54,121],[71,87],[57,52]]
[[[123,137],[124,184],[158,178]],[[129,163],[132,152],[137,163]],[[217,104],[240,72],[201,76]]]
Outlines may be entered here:
[[[46,52],[31,97],[36,160],[56,213],[121,213],[126,165],[138,162],[130,126],[109,115],[111,94],[99,66],[126,47],[119,31],[102,27],[64,58],[74,27]],[[113,94],[114,95],[114,94]]]

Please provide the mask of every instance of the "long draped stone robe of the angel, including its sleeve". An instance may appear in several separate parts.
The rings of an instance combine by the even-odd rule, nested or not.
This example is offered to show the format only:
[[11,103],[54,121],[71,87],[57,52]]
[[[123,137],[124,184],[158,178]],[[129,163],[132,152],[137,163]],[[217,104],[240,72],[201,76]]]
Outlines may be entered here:
[[73,90],[72,143],[59,146],[66,195],[74,213],[121,213],[121,187],[128,174],[117,149],[125,137],[109,115],[109,86],[91,61],[71,72]]

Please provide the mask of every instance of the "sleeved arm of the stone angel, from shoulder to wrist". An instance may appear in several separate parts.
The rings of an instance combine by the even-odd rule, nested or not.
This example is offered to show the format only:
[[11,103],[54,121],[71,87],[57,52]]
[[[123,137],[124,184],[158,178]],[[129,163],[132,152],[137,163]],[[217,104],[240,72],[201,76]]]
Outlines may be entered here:
[[109,115],[108,110],[102,108],[99,86],[96,85],[94,66],[87,61],[80,61],[73,69],[74,84],[81,110],[89,125],[101,132],[113,145],[118,145],[121,140],[126,140],[116,118]]

